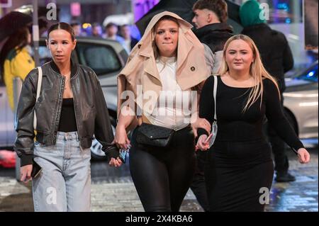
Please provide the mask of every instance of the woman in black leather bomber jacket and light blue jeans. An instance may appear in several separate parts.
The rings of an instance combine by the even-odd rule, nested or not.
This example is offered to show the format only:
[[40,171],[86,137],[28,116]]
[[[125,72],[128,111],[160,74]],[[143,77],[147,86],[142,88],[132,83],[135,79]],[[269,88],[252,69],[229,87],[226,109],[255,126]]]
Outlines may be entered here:
[[94,71],[71,60],[77,44],[72,27],[52,25],[46,43],[53,60],[28,74],[16,113],[14,149],[21,158],[21,181],[31,180],[36,162],[43,171],[32,179],[35,211],[89,211],[93,135],[110,164],[121,165],[108,108]]

